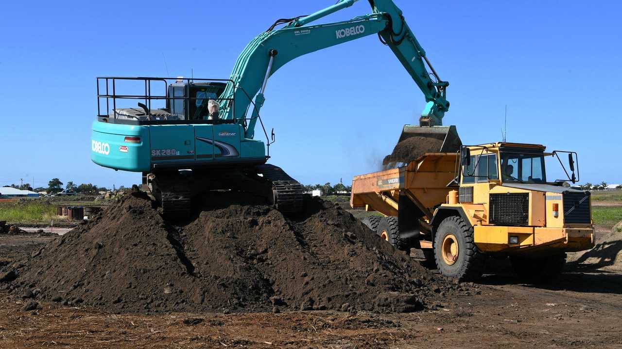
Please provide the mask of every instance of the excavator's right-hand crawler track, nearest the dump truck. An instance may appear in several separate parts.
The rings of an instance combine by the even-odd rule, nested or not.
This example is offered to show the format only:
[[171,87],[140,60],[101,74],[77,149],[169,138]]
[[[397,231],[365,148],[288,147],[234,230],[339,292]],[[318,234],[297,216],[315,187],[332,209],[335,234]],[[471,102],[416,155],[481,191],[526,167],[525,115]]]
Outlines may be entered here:
[[272,182],[274,205],[285,214],[297,214],[304,207],[305,188],[299,181],[291,178],[282,168],[274,165],[257,166],[264,179]]

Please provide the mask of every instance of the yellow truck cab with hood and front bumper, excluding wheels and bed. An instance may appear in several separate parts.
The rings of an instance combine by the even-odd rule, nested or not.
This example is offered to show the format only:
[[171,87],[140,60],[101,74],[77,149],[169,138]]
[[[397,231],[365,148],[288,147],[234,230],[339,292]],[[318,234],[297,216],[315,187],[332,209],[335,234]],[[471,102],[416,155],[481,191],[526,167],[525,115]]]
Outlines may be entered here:
[[[566,181],[547,178],[547,156],[559,160]],[[590,192],[568,183],[577,178],[576,153],[491,143],[463,147],[460,161],[460,186],[442,207],[462,209],[480,249],[546,255],[593,247]]]

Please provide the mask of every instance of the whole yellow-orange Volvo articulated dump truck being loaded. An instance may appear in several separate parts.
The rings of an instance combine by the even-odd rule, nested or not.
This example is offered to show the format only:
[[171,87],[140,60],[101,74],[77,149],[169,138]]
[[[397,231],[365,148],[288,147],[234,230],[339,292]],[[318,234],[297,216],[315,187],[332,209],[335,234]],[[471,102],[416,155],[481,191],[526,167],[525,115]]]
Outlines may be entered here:
[[491,256],[542,281],[562,271],[566,252],[595,240],[590,193],[546,178],[552,156],[575,182],[576,153],[544,150],[503,142],[425,153],[355,176],[350,205],[380,212],[363,223],[396,248],[421,249],[445,276],[477,279]]

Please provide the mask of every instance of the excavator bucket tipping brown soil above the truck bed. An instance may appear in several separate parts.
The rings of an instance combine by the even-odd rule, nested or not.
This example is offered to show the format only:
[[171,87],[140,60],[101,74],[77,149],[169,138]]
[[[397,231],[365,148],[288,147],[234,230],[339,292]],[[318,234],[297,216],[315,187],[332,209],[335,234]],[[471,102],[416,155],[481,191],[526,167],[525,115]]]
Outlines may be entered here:
[[462,141],[455,126],[404,125],[402,134],[391,155],[383,160],[384,168],[409,163],[425,153],[453,153],[460,150]]

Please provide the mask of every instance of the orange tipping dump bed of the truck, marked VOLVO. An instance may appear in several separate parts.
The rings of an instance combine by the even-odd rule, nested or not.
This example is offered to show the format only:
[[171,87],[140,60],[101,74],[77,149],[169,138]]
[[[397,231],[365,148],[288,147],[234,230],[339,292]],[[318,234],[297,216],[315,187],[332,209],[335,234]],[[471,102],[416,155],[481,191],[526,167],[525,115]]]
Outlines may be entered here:
[[431,219],[435,206],[455,189],[447,185],[455,177],[456,161],[456,153],[425,153],[400,168],[355,176],[350,206],[397,216],[402,195]]

